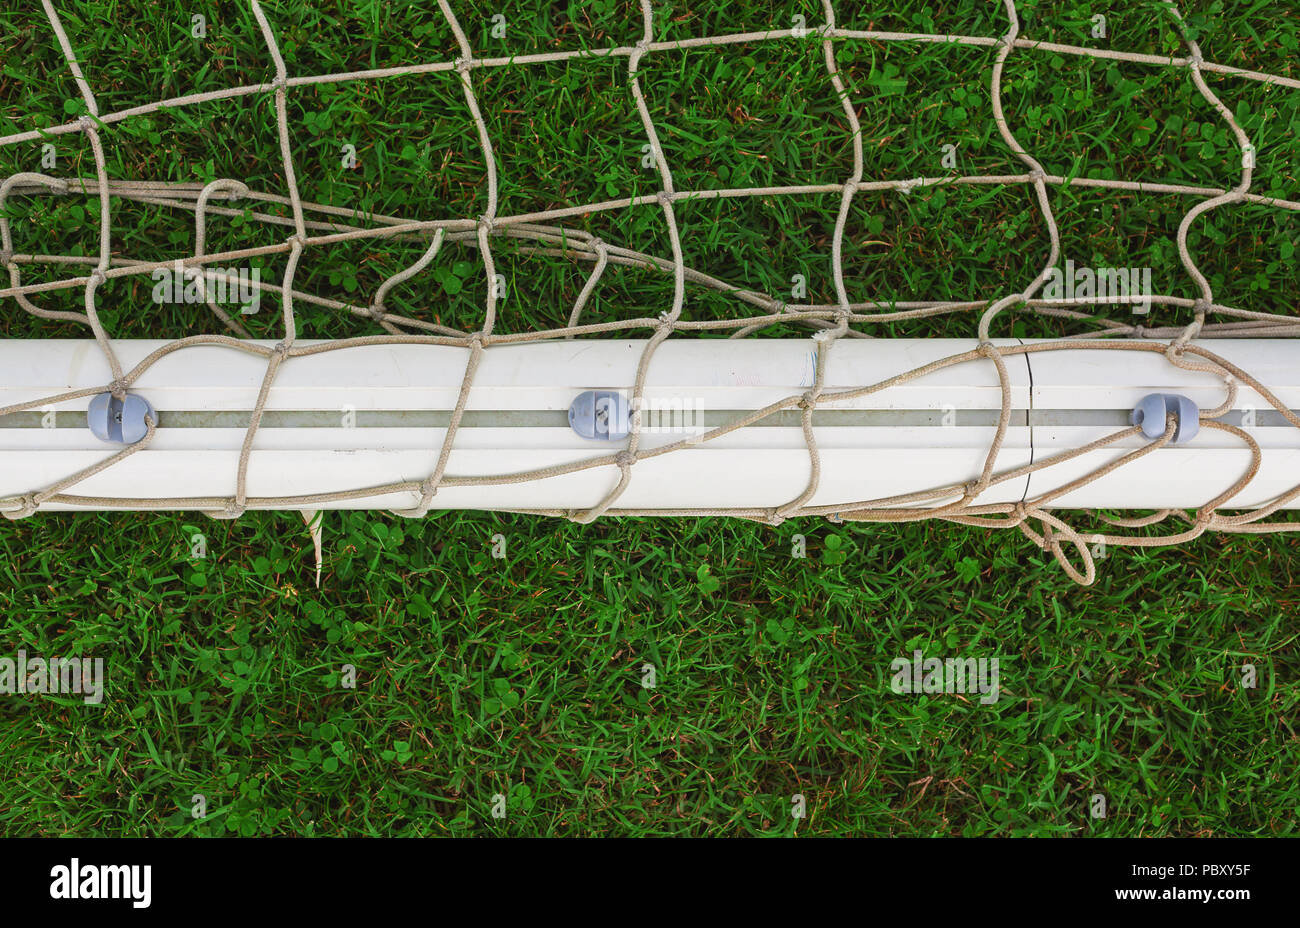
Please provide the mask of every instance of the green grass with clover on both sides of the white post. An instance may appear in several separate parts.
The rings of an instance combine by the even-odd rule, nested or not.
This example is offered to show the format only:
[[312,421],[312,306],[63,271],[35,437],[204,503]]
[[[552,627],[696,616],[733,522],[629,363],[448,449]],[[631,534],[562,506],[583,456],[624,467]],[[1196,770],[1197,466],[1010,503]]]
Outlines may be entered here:
[[[61,3],[104,112],[264,81],[272,74],[242,3]],[[868,6],[867,4],[841,4]],[[1019,4],[1023,34],[1089,44],[1084,4]],[[309,9],[308,9],[309,6]],[[452,0],[480,55],[607,47],[640,38],[636,4]],[[655,4],[656,38],[785,27],[819,4]],[[996,35],[1000,4],[894,0],[841,12],[857,29]],[[1209,60],[1300,77],[1294,4],[1184,3]],[[541,12],[538,12],[541,10]],[[504,13],[504,40],[490,17]],[[456,56],[434,4],[266,4],[291,74]],[[112,29],[101,27],[112,23]],[[1149,8],[1118,12],[1108,47],[1179,48]],[[0,134],[72,118],[75,87],[39,12],[0,12]],[[993,51],[841,43],[859,101],[868,178],[1019,172],[997,136]],[[502,175],[500,213],[656,188],[625,60],[474,71]],[[1300,199],[1300,92],[1206,78],[1256,139],[1256,190]],[[679,188],[837,183],[848,125],[820,48],[754,43],[649,56],[642,88]],[[902,82],[905,92],[902,91]],[[1013,53],[1006,108],[1049,170],[1228,186],[1226,129],[1184,74]],[[118,178],[235,177],[283,191],[265,96],[156,114],[105,133]],[[485,208],[482,152],[456,78],[325,84],[290,95],[303,196],[416,218]],[[199,131],[202,130],[202,131]],[[358,147],[356,170],[339,147]],[[60,136],[58,168],[92,173]],[[39,169],[39,146],[0,147],[0,177]],[[1149,264],[1164,292],[1195,296],[1171,235],[1188,198],[1052,192],[1065,256]],[[776,295],[793,274],[833,302],[829,242],[838,195],[679,203],[688,264]],[[94,198],[16,198],[16,247],[95,253]],[[192,221],[114,201],[114,246],[131,257],[190,251]],[[577,217],[610,242],[668,244],[658,207]],[[209,251],[281,240],[283,229],[212,220]],[[1291,311],[1300,296],[1300,216],[1258,207],[1200,220],[1191,248],[1218,298]],[[1287,248],[1291,259],[1287,259]],[[364,303],[424,251],[364,242],[312,251],[298,286]],[[586,268],[494,240],[510,296],[498,330],[559,325]],[[859,195],[848,230],[854,299],[987,299],[1046,256],[1019,187]],[[283,257],[264,261],[280,279]],[[57,272],[25,268],[25,281]],[[448,246],[399,287],[399,312],[473,328],[477,251]],[[656,313],[671,278],[608,272],[586,317]],[[39,295],[78,308],[79,292]],[[146,282],[100,290],[120,337],[214,330],[194,307],[148,303]],[[142,312],[140,307],[148,307]],[[199,307],[202,309],[202,307]],[[204,309],[204,312],[207,312]],[[690,289],[690,317],[733,317],[733,299]],[[1121,313],[1122,308],[1110,308]],[[880,335],[974,334],[976,315],[876,326]],[[1153,309],[1150,322],[1186,322]],[[299,308],[302,338],[374,331]],[[278,337],[277,313],[254,316]],[[1009,334],[1062,331],[1028,315]],[[82,337],[0,307],[6,338]],[[772,328],[763,335],[806,334]],[[1071,521],[1075,519],[1071,517]],[[190,556],[203,533],[207,558]],[[507,556],[491,556],[493,535]],[[794,535],[807,558],[792,556]],[[495,513],[424,521],[328,513],[325,572],[296,513],[237,522],[196,515],[42,513],[0,521],[0,658],[101,656],[107,699],[0,698],[3,834],[1291,834],[1300,811],[1296,615],[1300,539],[1212,537],[1180,548],[1112,550],[1076,587],[1015,532],[959,526],[777,529],[727,520],[603,520],[592,526]],[[997,656],[1001,699],[889,690],[889,664]],[[656,686],[642,685],[654,667]],[[1242,685],[1243,664],[1257,686]],[[346,667],[356,672],[344,686]],[[1089,816],[1106,797],[1109,815]],[[190,815],[195,794],[208,815]],[[494,819],[494,795],[507,818]],[[801,794],[807,818],[790,815]]]

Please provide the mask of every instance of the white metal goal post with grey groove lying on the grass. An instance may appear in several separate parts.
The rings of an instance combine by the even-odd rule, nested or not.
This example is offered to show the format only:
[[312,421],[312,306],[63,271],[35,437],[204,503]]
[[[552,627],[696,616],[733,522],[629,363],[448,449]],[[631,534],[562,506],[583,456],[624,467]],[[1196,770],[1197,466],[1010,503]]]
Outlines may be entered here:
[[[1000,347],[1032,343],[994,341]],[[113,342],[125,369],[165,344]],[[997,370],[987,359],[852,399],[837,400],[835,394],[978,344],[840,339],[827,357],[824,391],[812,413],[820,478],[806,506],[831,507],[827,513],[833,515],[841,504],[974,481],[1002,408]],[[1199,339],[1197,344],[1249,370],[1287,408],[1300,408],[1300,342],[1234,338]],[[485,351],[433,506],[577,511],[598,504],[619,482],[619,467],[493,485],[458,485],[458,477],[516,474],[623,448],[625,441],[576,434],[567,411],[588,390],[629,395],[644,348],[645,342],[636,339],[578,339],[498,344]],[[809,486],[811,463],[798,408],[690,447],[658,456],[650,452],[806,391],[815,376],[816,351],[818,343],[809,339],[670,339],[659,346],[645,381],[638,460],[618,499],[619,509],[762,509],[800,496]],[[287,359],[269,389],[252,443],[248,508],[285,508],[260,506],[259,498],[422,480],[443,446],[469,354],[441,344],[372,344]],[[1160,352],[1065,348],[1008,354],[1004,360],[1011,416],[994,473],[1037,464],[1124,430],[1132,409],[1150,394],[1179,394],[1202,411],[1226,398],[1221,376],[1182,369]],[[162,507],[151,500],[230,496],[265,367],[264,357],[218,344],[186,346],[155,361],[130,387],[157,411],[148,447],[68,491],[104,502],[51,499],[42,508],[205,508]],[[103,389],[110,380],[94,341],[0,341],[0,408]],[[0,508],[121,450],[87,428],[88,403],[86,395],[0,417]],[[1300,483],[1300,429],[1264,398],[1242,385],[1221,421],[1243,428],[1261,455],[1258,474],[1226,508],[1260,507]],[[974,503],[1036,498],[1149,443],[1140,434],[1128,437],[994,482]],[[1052,507],[1197,507],[1239,481],[1251,464],[1252,452],[1239,437],[1202,429],[1187,443],[1170,443],[1127,461],[1054,499]],[[312,508],[404,509],[419,495],[387,493]],[[1300,508],[1300,499],[1284,508]]]

